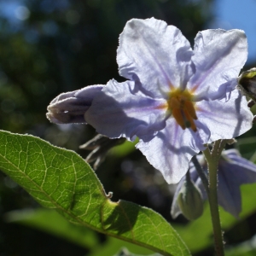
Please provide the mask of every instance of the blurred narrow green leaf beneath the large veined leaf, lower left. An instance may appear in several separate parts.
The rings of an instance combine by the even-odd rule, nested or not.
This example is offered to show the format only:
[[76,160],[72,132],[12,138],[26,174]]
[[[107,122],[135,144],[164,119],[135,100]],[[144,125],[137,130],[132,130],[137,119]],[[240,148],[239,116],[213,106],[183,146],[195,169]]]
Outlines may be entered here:
[[12,211],[5,214],[5,220],[25,224],[89,249],[96,247],[99,242],[95,232],[68,222],[54,210],[40,208]]

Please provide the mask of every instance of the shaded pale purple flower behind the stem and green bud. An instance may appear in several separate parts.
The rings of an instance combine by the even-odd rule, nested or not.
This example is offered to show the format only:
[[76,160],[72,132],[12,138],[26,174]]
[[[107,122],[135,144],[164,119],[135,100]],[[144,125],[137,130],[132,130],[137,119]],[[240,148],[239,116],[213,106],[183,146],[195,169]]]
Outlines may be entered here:
[[[203,170],[207,174],[207,161],[202,155],[197,156]],[[201,190],[203,200],[207,199],[207,193],[198,176],[195,166],[190,165],[190,177],[195,185]],[[177,204],[177,197],[183,187],[185,177],[177,185],[172,201],[172,218],[182,213]],[[241,184],[256,183],[256,165],[241,157],[236,149],[225,150],[218,162],[218,204],[226,212],[230,212],[236,218],[241,212]]]

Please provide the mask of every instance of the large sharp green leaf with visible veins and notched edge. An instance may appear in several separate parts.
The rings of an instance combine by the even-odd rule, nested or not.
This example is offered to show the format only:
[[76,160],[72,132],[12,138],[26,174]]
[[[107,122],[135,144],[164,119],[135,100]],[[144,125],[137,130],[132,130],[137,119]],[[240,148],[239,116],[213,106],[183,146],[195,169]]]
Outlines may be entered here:
[[128,201],[110,201],[95,172],[73,151],[38,137],[0,131],[0,168],[40,204],[74,224],[163,255],[189,255],[160,214]]

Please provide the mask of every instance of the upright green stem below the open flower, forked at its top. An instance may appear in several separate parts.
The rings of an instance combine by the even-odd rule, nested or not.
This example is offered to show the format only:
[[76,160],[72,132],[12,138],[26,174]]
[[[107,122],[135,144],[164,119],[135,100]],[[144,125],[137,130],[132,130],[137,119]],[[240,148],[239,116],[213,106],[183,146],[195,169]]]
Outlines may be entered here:
[[224,255],[224,241],[223,233],[220,225],[220,218],[218,212],[218,160],[225,145],[224,140],[219,140],[214,143],[212,152],[207,148],[203,153],[208,163],[208,200],[210,204],[210,211],[212,216],[212,228],[215,242],[216,255]]

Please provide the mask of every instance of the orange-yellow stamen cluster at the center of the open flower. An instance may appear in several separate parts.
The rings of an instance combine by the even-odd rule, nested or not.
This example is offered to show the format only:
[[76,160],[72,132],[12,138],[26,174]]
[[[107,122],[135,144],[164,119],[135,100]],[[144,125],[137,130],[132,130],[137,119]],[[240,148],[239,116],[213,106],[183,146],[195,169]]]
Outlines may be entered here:
[[191,128],[193,131],[196,131],[194,120],[197,119],[197,116],[195,113],[195,103],[192,102],[192,99],[193,95],[189,90],[175,89],[169,94],[168,109],[183,130]]

